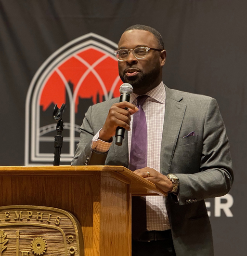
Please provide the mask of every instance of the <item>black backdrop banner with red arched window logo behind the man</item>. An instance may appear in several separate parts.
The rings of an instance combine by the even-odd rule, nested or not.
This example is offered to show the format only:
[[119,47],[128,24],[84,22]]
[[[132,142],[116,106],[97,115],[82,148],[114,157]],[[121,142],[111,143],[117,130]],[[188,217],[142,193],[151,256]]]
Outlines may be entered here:
[[51,165],[52,109],[62,103],[69,164],[87,108],[118,96],[122,32],[155,27],[167,50],[164,83],[220,106],[235,180],[206,204],[215,255],[246,255],[246,10],[245,0],[0,0],[0,165]]

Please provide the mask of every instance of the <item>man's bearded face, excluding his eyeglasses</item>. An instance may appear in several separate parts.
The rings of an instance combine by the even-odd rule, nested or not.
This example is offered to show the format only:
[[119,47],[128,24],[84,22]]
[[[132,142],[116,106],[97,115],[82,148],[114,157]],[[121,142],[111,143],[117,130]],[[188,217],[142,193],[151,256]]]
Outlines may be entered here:
[[[140,46],[160,49],[151,32],[135,29],[123,33],[118,43],[118,50],[130,50]],[[149,50],[143,59],[137,59],[131,51],[128,59],[118,61],[119,76],[123,82],[133,86],[134,93],[145,94],[161,82],[165,61],[166,51]]]

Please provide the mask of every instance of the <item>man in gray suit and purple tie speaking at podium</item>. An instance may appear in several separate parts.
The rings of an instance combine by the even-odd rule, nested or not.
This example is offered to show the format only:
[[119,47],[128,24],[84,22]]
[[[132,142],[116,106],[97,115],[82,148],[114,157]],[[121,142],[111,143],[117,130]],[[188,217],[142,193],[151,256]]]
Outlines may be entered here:
[[[146,217],[142,232],[134,227],[133,256],[212,256],[204,199],[226,194],[233,183],[228,138],[216,100],[163,84],[166,51],[154,28],[127,28],[116,56],[121,80],[133,87],[130,103],[117,98],[89,108],[72,164],[123,165],[169,192],[167,198],[146,197],[146,209],[133,216],[139,226]],[[147,96],[140,103],[143,94]],[[135,148],[136,137],[145,135],[145,129],[135,128],[138,113],[145,116],[147,152]],[[126,129],[121,147],[115,145],[117,126]],[[138,165],[138,157],[145,159],[144,165]],[[133,208],[137,203],[141,207],[139,201]]]

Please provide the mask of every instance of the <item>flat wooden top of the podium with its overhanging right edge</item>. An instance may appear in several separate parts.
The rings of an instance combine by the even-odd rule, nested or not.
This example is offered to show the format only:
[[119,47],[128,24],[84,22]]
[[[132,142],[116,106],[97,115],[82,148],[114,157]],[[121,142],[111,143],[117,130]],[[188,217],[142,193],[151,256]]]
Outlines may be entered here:
[[88,175],[94,172],[114,172],[123,175],[130,180],[132,196],[161,195],[167,196],[168,193],[159,189],[155,184],[147,181],[143,177],[134,174],[123,166],[110,165],[87,165],[87,166],[0,166],[0,176],[42,176],[42,175]]

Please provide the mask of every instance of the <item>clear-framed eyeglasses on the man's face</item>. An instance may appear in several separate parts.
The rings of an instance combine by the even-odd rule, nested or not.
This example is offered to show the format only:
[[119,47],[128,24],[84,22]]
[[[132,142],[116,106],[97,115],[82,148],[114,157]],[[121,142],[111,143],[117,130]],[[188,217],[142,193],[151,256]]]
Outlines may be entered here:
[[128,49],[117,50],[115,52],[115,55],[116,55],[116,58],[120,61],[127,60],[130,55],[130,52],[132,52],[137,59],[143,59],[146,57],[149,50],[154,50],[154,51],[159,51],[159,52],[163,51],[163,50],[156,49],[156,48],[142,46],[142,47],[137,47],[135,49],[130,49],[130,50],[128,50]]

